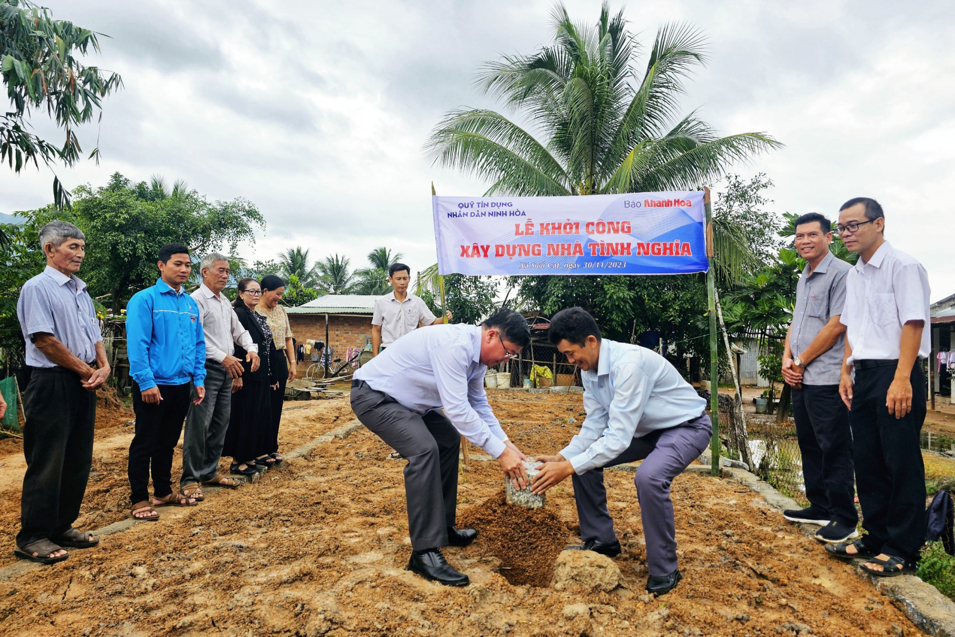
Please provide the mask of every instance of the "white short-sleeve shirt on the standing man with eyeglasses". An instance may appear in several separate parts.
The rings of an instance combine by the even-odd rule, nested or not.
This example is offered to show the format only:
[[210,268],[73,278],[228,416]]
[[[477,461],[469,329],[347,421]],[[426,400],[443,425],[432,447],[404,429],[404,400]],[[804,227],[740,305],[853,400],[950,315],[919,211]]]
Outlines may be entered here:
[[909,320],[924,321],[919,358],[928,358],[928,273],[919,261],[885,241],[868,263],[859,258],[845,279],[845,291],[839,321],[852,347],[848,364],[898,359],[902,325]]

